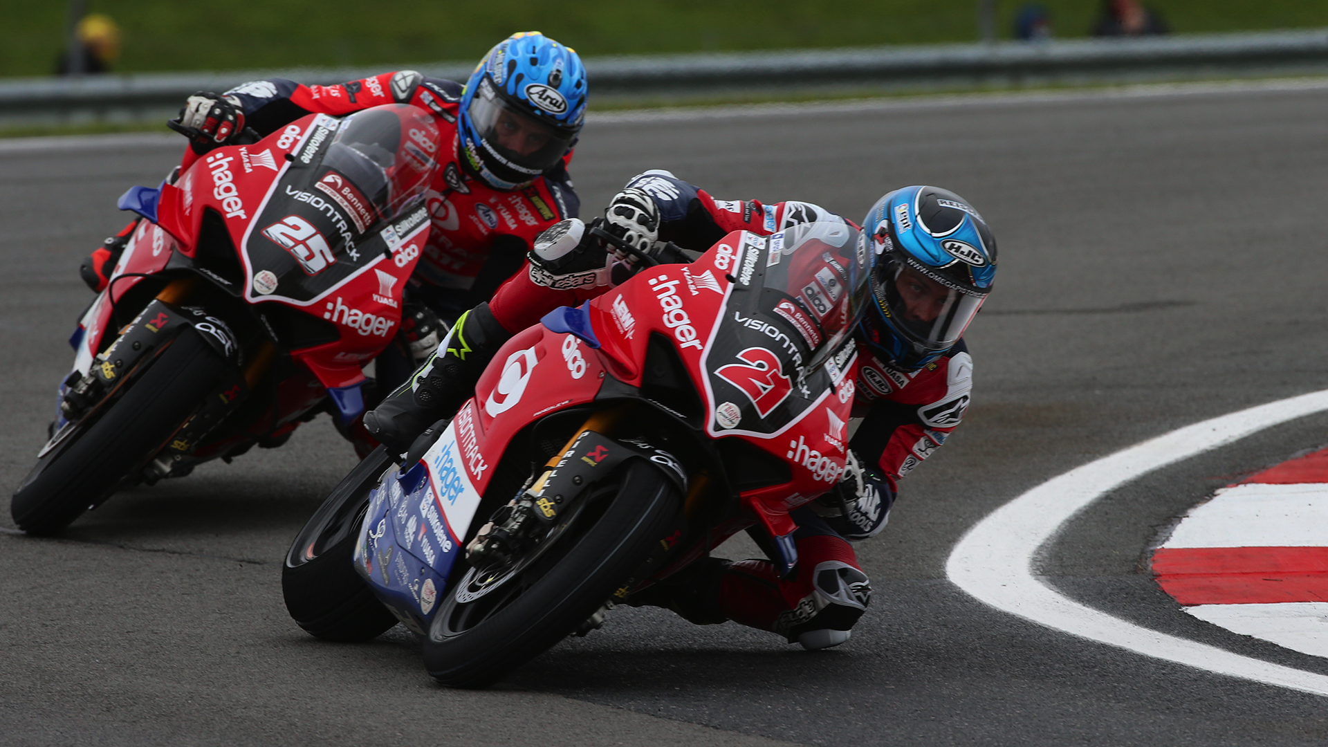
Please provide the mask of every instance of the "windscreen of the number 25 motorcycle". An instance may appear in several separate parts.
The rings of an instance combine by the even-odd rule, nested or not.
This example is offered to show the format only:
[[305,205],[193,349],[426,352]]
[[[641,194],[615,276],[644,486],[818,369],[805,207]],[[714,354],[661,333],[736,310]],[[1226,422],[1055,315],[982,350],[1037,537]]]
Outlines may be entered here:
[[[356,223],[390,221],[424,198],[438,169],[438,141],[433,118],[416,106],[388,104],[357,112],[337,130],[323,158],[332,175],[320,181],[351,205]],[[353,189],[343,189],[341,181]]]

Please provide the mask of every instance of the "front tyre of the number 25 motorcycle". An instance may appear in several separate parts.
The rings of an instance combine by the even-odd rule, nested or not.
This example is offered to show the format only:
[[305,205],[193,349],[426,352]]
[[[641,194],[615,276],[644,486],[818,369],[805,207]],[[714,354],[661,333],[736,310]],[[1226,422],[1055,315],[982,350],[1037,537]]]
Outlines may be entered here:
[[220,355],[183,330],[120,399],[41,456],[13,493],[15,524],[28,534],[53,534],[101,504],[161,449],[223,370]]

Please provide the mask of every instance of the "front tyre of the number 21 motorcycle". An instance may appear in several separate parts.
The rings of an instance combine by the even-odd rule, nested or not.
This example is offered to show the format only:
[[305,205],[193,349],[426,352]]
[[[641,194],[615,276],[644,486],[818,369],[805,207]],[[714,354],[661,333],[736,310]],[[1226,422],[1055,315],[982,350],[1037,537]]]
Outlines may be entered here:
[[[538,561],[470,602],[459,574],[424,641],[429,674],[453,687],[486,687],[572,633],[603,605],[675,525],[683,494],[643,460],[594,490],[575,528]],[[463,564],[458,564],[463,565]],[[462,569],[463,572],[465,569]]]

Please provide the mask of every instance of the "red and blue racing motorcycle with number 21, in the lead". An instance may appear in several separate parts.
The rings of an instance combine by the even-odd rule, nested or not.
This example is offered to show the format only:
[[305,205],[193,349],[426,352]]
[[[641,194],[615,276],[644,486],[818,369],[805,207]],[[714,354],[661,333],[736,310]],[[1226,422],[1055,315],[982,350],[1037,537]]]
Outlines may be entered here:
[[790,573],[789,512],[845,465],[867,251],[838,222],[733,233],[544,316],[333,490],[287,554],[291,615],[333,641],[400,621],[430,675],[478,687],[742,529]]

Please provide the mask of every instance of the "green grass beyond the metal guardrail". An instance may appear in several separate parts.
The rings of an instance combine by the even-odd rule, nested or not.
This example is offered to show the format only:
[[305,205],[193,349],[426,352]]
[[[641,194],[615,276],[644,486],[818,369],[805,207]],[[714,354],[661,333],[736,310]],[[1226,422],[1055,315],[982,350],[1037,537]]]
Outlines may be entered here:
[[[1088,33],[1101,0],[1042,0],[1060,39]],[[1328,0],[1151,0],[1178,33],[1328,27]],[[1023,1],[1000,0],[1012,35]],[[640,54],[977,37],[977,0],[88,0],[124,29],[117,70],[396,65],[478,60],[539,29],[582,54]],[[65,0],[0,0],[0,76],[49,73]]]

